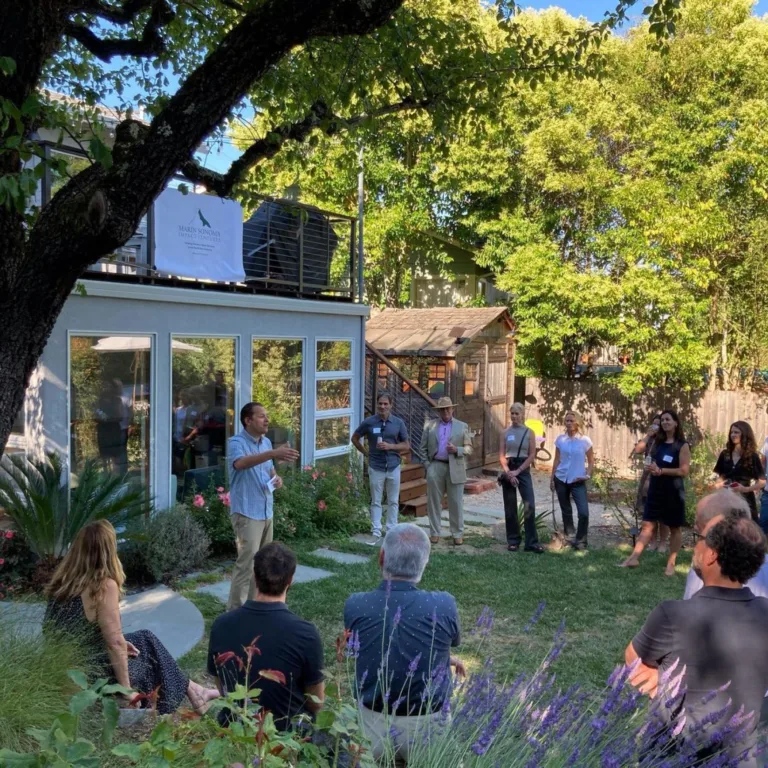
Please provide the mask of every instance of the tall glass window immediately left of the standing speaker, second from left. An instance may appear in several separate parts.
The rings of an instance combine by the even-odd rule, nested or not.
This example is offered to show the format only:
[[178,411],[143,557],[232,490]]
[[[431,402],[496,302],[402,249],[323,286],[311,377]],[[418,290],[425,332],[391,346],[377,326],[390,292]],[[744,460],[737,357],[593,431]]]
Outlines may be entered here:
[[235,339],[171,339],[171,472],[178,499],[187,486],[224,481],[227,440],[235,431],[235,360]]

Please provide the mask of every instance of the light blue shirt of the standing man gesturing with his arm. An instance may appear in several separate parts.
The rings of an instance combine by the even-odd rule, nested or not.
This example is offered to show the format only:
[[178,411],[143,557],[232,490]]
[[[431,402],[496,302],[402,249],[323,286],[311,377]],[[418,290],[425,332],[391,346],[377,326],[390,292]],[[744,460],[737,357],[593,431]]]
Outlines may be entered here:
[[272,443],[264,436],[256,439],[243,429],[229,438],[227,468],[229,470],[230,514],[250,517],[251,520],[269,520],[272,517],[272,493],[268,483],[272,477],[272,460],[250,469],[235,469],[235,462],[245,456],[272,450]]

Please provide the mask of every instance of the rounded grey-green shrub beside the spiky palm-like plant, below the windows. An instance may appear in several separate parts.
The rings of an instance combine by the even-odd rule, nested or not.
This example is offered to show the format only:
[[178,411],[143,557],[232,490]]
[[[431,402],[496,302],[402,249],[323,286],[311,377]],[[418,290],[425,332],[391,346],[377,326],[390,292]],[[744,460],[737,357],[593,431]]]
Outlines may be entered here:
[[202,566],[209,552],[205,530],[179,505],[130,529],[120,559],[131,580],[167,582]]

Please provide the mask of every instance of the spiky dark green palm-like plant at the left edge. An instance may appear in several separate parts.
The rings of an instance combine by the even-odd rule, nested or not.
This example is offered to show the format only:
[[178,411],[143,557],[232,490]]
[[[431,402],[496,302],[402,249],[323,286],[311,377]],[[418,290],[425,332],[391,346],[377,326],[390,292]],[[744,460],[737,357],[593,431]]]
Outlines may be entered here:
[[85,463],[71,492],[63,469],[55,453],[42,460],[0,459],[0,507],[43,561],[62,557],[80,529],[94,520],[107,519],[117,527],[151,511],[146,488],[103,471],[94,461]]

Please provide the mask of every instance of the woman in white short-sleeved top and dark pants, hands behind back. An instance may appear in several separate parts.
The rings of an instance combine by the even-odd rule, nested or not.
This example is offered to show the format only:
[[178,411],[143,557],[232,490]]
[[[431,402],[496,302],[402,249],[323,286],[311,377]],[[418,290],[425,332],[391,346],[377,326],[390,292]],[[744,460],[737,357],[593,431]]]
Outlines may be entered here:
[[[586,549],[589,529],[589,503],[586,482],[595,468],[592,441],[582,434],[581,416],[575,411],[565,414],[565,434],[555,440],[555,461],[550,488],[557,493],[563,515],[565,535],[575,549]],[[573,529],[573,507],[576,503],[578,527]],[[575,538],[574,538],[575,533]]]

